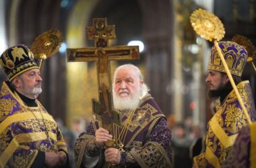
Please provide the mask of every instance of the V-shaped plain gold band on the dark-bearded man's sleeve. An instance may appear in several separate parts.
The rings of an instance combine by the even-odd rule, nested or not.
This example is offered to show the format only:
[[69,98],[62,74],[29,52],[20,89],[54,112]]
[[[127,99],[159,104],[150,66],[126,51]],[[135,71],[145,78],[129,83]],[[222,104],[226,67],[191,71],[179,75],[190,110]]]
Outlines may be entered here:
[[228,136],[226,132],[223,130],[223,128],[220,126],[216,119],[216,115],[210,120],[210,126],[212,128],[212,131],[217,136],[217,138],[220,140],[220,142],[223,144],[225,149],[227,149],[229,146],[232,146],[234,144],[234,141],[236,140],[237,134],[233,134],[231,136]]

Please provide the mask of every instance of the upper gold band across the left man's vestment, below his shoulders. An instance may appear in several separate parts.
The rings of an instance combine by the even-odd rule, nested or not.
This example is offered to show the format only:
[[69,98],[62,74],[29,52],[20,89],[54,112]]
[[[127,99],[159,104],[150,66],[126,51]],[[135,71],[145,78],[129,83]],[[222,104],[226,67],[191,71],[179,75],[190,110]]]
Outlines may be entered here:
[[[36,118],[35,118],[36,116]],[[6,118],[5,120],[3,120],[3,122],[0,124],[0,134],[1,132],[3,132],[3,130],[5,130],[5,128],[7,126],[9,126],[9,124],[13,123],[13,122],[20,122],[20,121],[24,121],[24,120],[31,120],[31,119],[44,119],[44,120],[49,120],[51,122],[55,122],[53,120],[53,117],[49,114],[46,113],[42,113],[42,116],[40,113],[34,113],[34,116],[31,114],[31,112],[24,112],[24,113],[20,113],[20,114],[13,114],[12,116],[8,116],[8,118]]]

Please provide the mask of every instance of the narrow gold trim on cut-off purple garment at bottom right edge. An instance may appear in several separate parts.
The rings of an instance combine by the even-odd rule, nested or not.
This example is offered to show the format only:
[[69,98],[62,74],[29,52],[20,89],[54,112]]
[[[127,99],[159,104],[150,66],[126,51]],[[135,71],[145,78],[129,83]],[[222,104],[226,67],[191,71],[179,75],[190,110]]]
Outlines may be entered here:
[[250,163],[252,168],[256,168],[256,122],[250,125],[251,134],[251,158]]

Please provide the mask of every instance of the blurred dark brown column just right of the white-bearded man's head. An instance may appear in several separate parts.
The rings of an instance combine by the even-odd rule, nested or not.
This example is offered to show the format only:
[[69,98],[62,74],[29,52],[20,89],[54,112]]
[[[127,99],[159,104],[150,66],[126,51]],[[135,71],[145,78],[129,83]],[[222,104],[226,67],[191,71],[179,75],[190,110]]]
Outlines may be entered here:
[[173,76],[172,1],[139,1],[143,16],[143,40],[146,44],[146,82],[152,97],[166,116],[173,113],[168,84]]

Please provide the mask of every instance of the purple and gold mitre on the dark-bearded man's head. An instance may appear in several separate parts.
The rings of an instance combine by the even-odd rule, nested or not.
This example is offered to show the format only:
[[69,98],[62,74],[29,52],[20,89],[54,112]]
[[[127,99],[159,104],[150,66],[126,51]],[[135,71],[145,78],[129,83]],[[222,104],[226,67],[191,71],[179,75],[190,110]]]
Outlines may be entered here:
[[[223,41],[218,42],[218,45],[220,46],[220,50],[222,50],[230,73],[241,77],[247,62],[247,50],[236,42]],[[216,46],[212,47],[208,70],[226,73]]]

